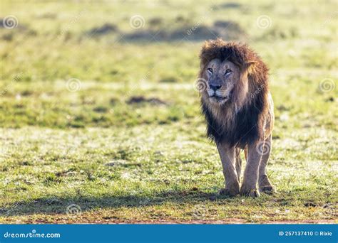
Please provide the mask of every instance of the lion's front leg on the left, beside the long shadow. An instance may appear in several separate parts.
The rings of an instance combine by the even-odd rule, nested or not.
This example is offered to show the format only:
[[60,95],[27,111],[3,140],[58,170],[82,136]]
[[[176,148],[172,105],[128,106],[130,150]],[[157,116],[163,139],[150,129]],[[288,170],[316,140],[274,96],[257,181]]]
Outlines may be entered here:
[[229,148],[225,144],[217,143],[218,153],[222,161],[223,175],[225,177],[225,189],[222,194],[234,196],[240,193],[240,182],[236,171],[235,148]]

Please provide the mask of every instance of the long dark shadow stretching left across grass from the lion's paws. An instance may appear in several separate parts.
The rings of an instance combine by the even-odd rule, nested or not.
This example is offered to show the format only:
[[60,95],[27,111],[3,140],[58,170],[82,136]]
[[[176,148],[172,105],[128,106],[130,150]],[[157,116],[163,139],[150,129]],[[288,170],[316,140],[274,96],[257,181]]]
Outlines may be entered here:
[[205,193],[196,190],[175,190],[156,193],[150,197],[145,195],[76,195],[73,197],[48,196],[31,200],[31,202],[15,202],[8,207],[0,208],[0,217],[34,214],[66,214],[68,210],[86,212],[98,208],[147,207],[173,202],[178,205],[186,203],[203,203],[225,198],[218,193]]

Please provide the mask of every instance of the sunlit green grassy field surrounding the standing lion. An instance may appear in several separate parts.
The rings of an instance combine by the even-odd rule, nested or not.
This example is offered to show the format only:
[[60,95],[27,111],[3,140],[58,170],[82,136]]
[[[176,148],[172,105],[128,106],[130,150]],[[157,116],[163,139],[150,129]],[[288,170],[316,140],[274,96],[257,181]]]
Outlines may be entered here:
[[[27,11],[29,9],[29,11]],[[336,1],[1,1],[0,222],[337,222]],[[219,195],[205,39],[270,67],[274,195]]]

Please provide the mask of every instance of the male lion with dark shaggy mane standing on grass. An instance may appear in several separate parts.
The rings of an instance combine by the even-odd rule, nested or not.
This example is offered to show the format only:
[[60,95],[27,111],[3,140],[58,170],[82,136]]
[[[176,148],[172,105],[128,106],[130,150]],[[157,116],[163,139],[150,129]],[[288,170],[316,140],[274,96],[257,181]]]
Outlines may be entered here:
[[[198,80],[204,82],[200,102],[207,134],[215,141],[225,177],[220,193],[252,198],[274,193],[267,161],[275,117],[265,63],[245,44],[206,41]],[[240,185],[241,150],[247,165]]]

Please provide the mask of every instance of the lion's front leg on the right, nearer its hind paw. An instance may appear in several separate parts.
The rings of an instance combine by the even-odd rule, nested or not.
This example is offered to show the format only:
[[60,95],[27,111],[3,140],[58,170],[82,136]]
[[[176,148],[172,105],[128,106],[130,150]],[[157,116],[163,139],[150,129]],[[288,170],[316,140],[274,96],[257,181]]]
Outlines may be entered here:
[[257,149],[257,144],[250,144],[247,148],[247,165],[245,166],[243,182],[240,188],[242,195],[250,195],[252,198],[260,195],[257,190],[257,181],[261,158],[262,153]]

